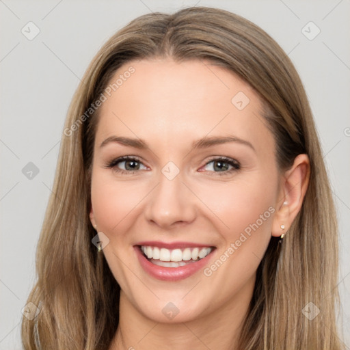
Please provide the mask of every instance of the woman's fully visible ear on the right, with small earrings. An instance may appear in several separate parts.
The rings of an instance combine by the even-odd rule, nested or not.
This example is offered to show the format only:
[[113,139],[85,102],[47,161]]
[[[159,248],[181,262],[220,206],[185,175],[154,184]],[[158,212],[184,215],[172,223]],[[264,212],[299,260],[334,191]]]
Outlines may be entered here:
[[309,179],[309,158],[306,154],[299,154],[295,157],[292,167],[282,174],[278,204],[273,217],[272,236],[280,237],[291,227],[303,204]]

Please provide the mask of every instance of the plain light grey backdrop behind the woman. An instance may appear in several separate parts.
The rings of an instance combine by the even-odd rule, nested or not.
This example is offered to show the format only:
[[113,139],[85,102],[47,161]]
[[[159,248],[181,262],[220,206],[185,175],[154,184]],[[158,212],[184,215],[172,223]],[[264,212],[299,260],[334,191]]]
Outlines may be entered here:
[[[87,64],[109,36],[133,18],[190,5],[224,8],[265,29],[291,57],[304,82],[338,209],[342,302],[338,322],[345,328],[350,349],[349,0],[0,0],[1,350],[21,349],[21,309],[35,280],[36,245],[64,119]],[[33,40],[21,32],[29,21],[40,29]],[[317,28],[306,26],[310,21],[321,30],[313,40],[310,36]],[[23,174],[29,162],[39,170],[31,178]]]

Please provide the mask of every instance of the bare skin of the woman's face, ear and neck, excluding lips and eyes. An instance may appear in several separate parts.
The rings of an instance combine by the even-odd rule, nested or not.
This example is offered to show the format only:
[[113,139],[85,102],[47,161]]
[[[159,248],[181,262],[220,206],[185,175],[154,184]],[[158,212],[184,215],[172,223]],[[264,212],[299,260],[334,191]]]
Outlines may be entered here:
[[[110,349],[237,349],[271,235],[286,232],[301,208],[308,157],[299,155],[280,172],[260,98],[232,72],[199,60],[149,59],[125,64],[116,77],[130,66],[135,73],[100,110],[92,168],[90,218],[109,239],[103,254],[121,287],[120,324]],[[237,92],[250,99],[242,110],[231,103]],[[252,147],[191,146],[202,137],[228,135]],[[111,136],[143,139],[149,149],[100,146]],[[122,156],[137,156],[139,170],[131,174],[122,161],[106,167]],[[235,159],[240,169],[224,163],[228,170],[218,170],[211,159],[219,156]],[[172,180],[161,172],[169,161],[179,170]],[[133,245],[154,240],[215,246],[210,267],[269,207],[274,213],[210,276],[200,270],[165,282],[139,265]],[[169,302],[179,310],[172,320],[162,312]]]

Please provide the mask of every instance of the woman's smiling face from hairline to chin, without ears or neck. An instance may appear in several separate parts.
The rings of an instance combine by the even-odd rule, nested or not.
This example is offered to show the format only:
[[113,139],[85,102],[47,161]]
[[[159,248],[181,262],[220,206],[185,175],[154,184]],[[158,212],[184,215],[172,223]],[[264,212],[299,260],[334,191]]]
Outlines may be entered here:
[[204,63],[125,64],[96,129],[92,224],[123,297],[157,322],[247,304],[280,205],[258,95]]

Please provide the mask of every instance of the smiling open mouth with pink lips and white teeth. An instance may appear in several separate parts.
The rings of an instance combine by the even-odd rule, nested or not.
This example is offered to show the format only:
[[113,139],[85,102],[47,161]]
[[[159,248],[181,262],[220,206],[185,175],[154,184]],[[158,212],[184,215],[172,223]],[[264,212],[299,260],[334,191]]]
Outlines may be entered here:
[[[159,280],[182,280],[199,271],[213,256],[215,247],[178,243],[177,247],[144,243],[134,248],[139,262],[149,275]],[[174,246],[170,244],[168,246]]]

